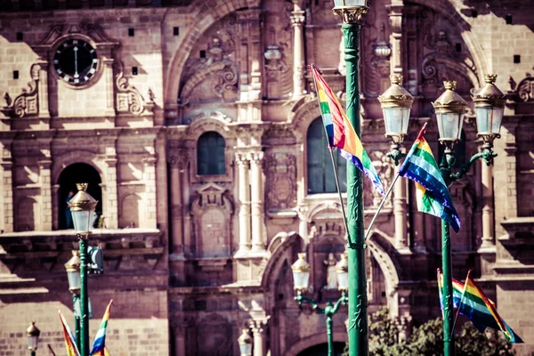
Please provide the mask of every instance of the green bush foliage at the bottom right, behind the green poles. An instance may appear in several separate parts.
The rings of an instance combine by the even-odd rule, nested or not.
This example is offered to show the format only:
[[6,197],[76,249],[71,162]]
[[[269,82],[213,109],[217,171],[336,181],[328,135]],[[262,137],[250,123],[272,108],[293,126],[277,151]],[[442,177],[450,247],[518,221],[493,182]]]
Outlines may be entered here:
[[[386,308],[372,314],[369,325],[369,355],[371,356],[437,356],[443,354],[443,324],[441,318],[428,320],[413,328],[407,340],[399,337],[401,321],[390,318]],[[515,352],[500,333],[487,329],[481,333],[471,322],[463,325],[455,337],[456,356],[512,356]],[[344,356],[348,356],[348,347]]]

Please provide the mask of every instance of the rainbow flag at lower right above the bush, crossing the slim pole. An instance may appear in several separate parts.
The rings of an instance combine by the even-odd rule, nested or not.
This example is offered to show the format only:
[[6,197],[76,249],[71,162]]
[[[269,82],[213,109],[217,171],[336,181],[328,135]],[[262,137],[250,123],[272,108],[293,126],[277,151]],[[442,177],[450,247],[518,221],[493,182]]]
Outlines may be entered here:
[[[441,288],[443,287],[443,274],[438,270],[438,290],[440,292],[440,304],[443,308]],[[473,325],[481,332],[485,328],[494,328],[501,330],[506,339],[513,344],[522,344],[521,337],[514,333],[514,330],[506,324],[497,312],[495,303],[493,303],[481,288],[474,283],[473,279],[465,279],[465,284],[460,283],[457,279],[452,279],[452,302],[457,312],[469,318]]]

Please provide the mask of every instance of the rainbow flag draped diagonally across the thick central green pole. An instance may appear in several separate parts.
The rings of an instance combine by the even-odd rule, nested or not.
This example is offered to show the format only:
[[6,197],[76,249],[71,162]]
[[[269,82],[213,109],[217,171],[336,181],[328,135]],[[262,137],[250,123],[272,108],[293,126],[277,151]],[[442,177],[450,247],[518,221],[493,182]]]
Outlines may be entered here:
[[336,94],[332,92],[315,66],[311,66],[311,69],[317,86],[323,124],[328,136],[328,148],[331,150],[332,147],[336,147],[341,156],[366,174],[373,182],[375,189],[384,195],[384,185],[376,173],[375,166],[363,149],[360,138],[345,115]]

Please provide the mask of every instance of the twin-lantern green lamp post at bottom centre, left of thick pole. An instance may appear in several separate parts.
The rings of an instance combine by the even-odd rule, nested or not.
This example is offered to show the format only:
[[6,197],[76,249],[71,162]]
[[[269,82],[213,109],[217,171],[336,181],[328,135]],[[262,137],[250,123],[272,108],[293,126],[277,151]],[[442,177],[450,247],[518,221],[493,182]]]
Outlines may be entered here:
[[312,304],[313,310],[327,316],[327,336],[328,336],[328,356],[334,356],[334,328],[332,323],[332,317],[336,314],[339,306],[343,303],[346,304],[349,298],[346,296],[349,282],[348,262],[345,254],[341,255],[341,260],[336,263],[336,278],[338,289],[342,292],[341,297],[337,300],[336,304],[332,304],[328,300],[327,306],[323,309],[312,298],[303,296],[303,291],[308,289],[308,281],[310,279],[310,264],[306,262],[306,254],[298,254],[298,260],[291,266],[293,270],[294,289],[297,292],[295,301],[299,305],[303,303]]

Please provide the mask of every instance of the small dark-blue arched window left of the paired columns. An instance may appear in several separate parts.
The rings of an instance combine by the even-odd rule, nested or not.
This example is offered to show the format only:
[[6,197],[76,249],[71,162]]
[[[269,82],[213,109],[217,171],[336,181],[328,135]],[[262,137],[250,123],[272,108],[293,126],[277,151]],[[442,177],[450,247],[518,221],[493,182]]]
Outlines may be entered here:
[[226,143],[223,136],[210,131],[202,134],[197,143],[197,172],[198,175],[224,174],[224,148]]

